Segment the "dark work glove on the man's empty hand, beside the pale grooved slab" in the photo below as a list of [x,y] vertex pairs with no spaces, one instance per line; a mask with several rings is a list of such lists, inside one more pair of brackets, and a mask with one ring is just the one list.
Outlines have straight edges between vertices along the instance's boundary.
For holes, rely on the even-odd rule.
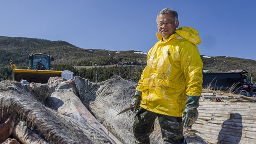
[[190,127],[197,121],[200,97],[188,95],[188,102],[186,103],[186,108],[183,112],[183,126]]

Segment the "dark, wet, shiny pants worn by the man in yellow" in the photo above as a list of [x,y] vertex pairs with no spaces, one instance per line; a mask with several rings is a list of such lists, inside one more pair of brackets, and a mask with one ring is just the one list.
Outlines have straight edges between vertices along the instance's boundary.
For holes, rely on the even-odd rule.
[[183,137],[182,118],[161,115],[139,108],[133,124],[136,144],[150,144],[149,136],[158,117],[165,144],[187,144]]

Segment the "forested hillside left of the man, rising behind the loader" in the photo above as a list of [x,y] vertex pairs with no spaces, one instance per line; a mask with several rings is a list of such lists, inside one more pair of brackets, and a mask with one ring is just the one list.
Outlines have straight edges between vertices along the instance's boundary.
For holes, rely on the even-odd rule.
[[[26,66],[30,53],[47,53],[55,58],[53,64],[114,65],[128,61],[146,63],[146,54],[135,51],[109,51],[83,49],[65,41],[0,36],[0,66],[4,67],[13,60],[16,66]],[[9,65],[8,65],[9,66]]]

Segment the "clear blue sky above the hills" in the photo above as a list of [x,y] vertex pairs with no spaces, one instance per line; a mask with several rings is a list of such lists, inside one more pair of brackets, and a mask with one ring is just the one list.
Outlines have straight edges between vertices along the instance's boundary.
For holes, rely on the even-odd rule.
[[0,36],[148,52],[165,7],[198,30],[200,54],[256,60],[256,0],[0,0]]

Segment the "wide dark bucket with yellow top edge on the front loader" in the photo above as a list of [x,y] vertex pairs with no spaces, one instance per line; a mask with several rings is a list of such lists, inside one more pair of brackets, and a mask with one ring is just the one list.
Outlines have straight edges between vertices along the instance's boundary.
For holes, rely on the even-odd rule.
[[61,77],[61,71],[13,69],[13,80],[27,80],[29,83],[47,83],[50,77]]

